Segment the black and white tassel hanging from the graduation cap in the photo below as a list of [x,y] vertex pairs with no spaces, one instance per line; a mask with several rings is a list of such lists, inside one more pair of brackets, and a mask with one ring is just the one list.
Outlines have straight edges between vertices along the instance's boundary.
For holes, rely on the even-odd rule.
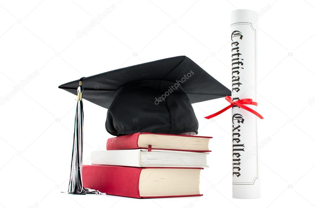
[[74,123],[74,135],[73,135],[73,149],[71,160],[71,173],[69,181],[69,194],[101,194],[94,189],[88,189],[83,187],[82,182],[82,151],[83,151],[83,102],[82,93],[83,86],[79,81],[79,87],[77,88],[77,111]]

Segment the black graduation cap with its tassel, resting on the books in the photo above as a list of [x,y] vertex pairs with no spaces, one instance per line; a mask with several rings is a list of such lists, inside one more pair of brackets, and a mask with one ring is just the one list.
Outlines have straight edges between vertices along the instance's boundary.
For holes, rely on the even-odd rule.
[[[192,103],[231,95],[229,89],[186,56],[142,63],[60,85],[59,88],[78,95],[74,133],[74,143],[78,145],[73,148],[81,152],[74,151],[73,165],[82,160],[79,156],[82,157],[83,87],[84,99],[108,109],[105,127],[115,136],[137,132],[197,134],[198,120]],[[72,171],[79,174],[72,175],[69,193],[87,193],[82,186],[81,170],[73,167]]]

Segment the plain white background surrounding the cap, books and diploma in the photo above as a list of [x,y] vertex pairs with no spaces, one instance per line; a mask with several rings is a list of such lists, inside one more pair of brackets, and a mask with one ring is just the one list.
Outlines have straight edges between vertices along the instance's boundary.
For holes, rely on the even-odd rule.
[[[193,104],[199,135],[214,137],[210,168],[201,172],[202,197],[60,193],[67,191],[76,105],[76,96],[58,89],[60,84],[186,55],[231,88],[230,11],[261,11],[268,4],[258,30],[257,110],[265,117],[258,119],[261,199],[231,197],[231,111],[203,118],[227,106],[223,98]],[[77,38],[77,31],[113,5],[100,24]],[[1,1],[0,207],[314,206],[314,17],[310,0]],[[88,160],[111,135],[106,109],[84,101],[84,113]]]

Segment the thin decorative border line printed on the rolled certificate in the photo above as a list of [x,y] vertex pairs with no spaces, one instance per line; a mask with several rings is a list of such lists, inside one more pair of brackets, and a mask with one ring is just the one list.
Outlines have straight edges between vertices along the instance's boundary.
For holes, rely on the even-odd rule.
[[[254,31],[254,41],[255,41],[255,44],[254,44],[254,51],[255,51],[255,101],[257,100],[256,99],[256,54],[257,54],[257,51],[256,51],[256,30],[255,28],[253,27],[252,23],[250,22],[236,22],[236,23],[233,23],[231,24],[231,27],[232,26],[235,26],[235,25],[249,25],[250,28]],[[256,110],[256,106],[255,106],[255,110]],[[236,184],[236,185],[254,185],[255,184],[255,180],[258,178],[258,142],[257,142],[257,119],[255,118],[255,131],[256,131],[256,176],[253,178],[253,180],[251,182],[233,182],[232,181],[232,184]]]

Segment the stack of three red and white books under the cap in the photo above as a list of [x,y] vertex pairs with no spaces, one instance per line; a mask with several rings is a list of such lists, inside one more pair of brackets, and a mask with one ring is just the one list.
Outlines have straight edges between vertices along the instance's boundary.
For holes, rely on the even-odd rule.
[[211,137],[135,133],[107,140],[83,166],[85,187],[133,198],[201,196]]

